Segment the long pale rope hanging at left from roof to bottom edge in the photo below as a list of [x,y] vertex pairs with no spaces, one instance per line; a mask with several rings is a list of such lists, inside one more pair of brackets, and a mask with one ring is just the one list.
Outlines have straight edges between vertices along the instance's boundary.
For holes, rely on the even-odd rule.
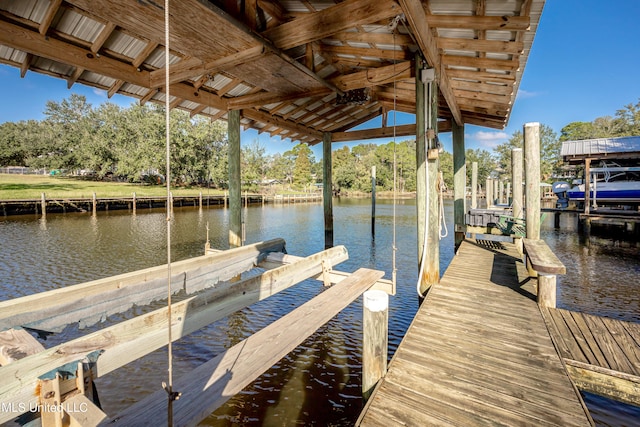
[[171,133],[170,133],[170,102],[169,102],[169,0],[164,2],[164,67],[165,67],[165,148],[167,185],[167,365],[168,380],[162,383],[167,392],[167,425],[173,427],[173,401],[178,400],[180,393],[173,391],[173,337],[171,334],[171,212],[173,200],[171,197]]

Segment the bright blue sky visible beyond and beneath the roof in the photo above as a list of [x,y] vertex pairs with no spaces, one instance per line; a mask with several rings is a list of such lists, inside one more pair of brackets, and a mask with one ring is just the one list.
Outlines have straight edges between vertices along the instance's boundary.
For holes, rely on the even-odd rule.
[[[466,147],[491,151],[527,122],[546,124],[559,134],[568,123],[614,116],[625,105],[636,104],[640,100],[638,19],[638,0],[547,0],[507,127],[467,125]],[[61,101],[71,93],[85,95],[93,105],[107,101],[104,91],[80,84],[68,90],[66,84],[33,72],[21,79],[19,69],[0,65],[4,101],[0,102],[0,123],[42,119],[47,100]],[[122,106],[135,102],[120,95],[110,101]],[[401,120],[398,115],[399,124]],[[293,146],[289,140],[255,131],[242,135],[243,143],[256,139],[269,153]],[[440,139],[451,151],[451,134],[444,133]],[[334,144],[334,149],[339,147]],[[322,157],[319,145],[313,151],[316,158]]]

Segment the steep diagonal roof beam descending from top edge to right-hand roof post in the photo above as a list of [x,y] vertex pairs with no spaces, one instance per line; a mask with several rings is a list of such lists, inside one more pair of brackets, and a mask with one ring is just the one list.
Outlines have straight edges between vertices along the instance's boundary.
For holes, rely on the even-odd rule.
[[442,92],[444,99],[447,101],[447,105],[449,106],[453,119],[457,124],[462,125],[464,123],[462,120],[462,113],[460,112],[460,107],[458,106],[456,97],[453,94],[451,85],[449,84],[447,70],[445,70],[444,67],[441,67],[440,55],[436,45],[435,36],[431,31],[422,2],[420,0],[399,0],[399,3],[402,6],[402,10],[404,10],[409,26],[418,41],[418,46],[420,47],[422,54],[425,56],[427,63],[430,67],[436,69],[436,73],[439,77],[438,88],[440,89],[440,92]]

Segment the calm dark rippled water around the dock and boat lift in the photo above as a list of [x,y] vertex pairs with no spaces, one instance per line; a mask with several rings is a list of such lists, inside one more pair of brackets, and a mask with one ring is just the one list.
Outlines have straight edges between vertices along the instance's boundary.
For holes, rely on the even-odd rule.
[[[350,259],[336,268],[370,267],[387,272],[392,256],[392,205],[379,200],[376,233],[371,234],[370,201],[336,200],[336,245],[345,245]],[[417,308],[415,205],[397,205],[398,292],[390,298],[389,342],[393,353]],[[321,204],[274,205],[243,210],[247,243],[282,237],[287,251],[306,256],[324,248]],[[452,230],[452,203],[445,201]],[[176,209],[172,224],[174,260],[201,255],[207,224],[211,245],[228,247],[227,211],[219,208]],[[84,214],[8,217],[0,219],[0,300],[55,289],[166,261],[166,221],[162,211],[111,211]],[[640,321],[637,250],[584,246],[568,231],[544,230],[545,238],[566,264],[560,279],[558,305],[614,318]],[[453,257],[453,236],[440,243],[441,271]],[[305,281],[180,340],[174,346],[174,372],[198,366],[225,348],[260,330],[322,292]],[[109,321],[130,318],[153,307],[137,307]],[[362,305],[358,300],[318,330],[295,351],[242,393],[206,419],[204,425],[351,425],[362,409],[360,348]],[[107,322],[108,323],[108,322]],[[48,337],[46,347],[102,328],[67,327]],[[165,380],[166,352],[157,351],[98,380],[103,408],[115,414]],[[1,381],[1,380],[0,380]],[[116,387],[117,385],[117,387]],[[600,425],[634,425],[640,410],[597,396],[586,396]]]

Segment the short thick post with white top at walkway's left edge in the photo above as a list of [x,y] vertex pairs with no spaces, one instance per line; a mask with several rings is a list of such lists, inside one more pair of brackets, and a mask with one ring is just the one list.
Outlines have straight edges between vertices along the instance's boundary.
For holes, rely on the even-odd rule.
[[365,400],[387,372],[389,295],[371,290],[363,294],[362,395]]

